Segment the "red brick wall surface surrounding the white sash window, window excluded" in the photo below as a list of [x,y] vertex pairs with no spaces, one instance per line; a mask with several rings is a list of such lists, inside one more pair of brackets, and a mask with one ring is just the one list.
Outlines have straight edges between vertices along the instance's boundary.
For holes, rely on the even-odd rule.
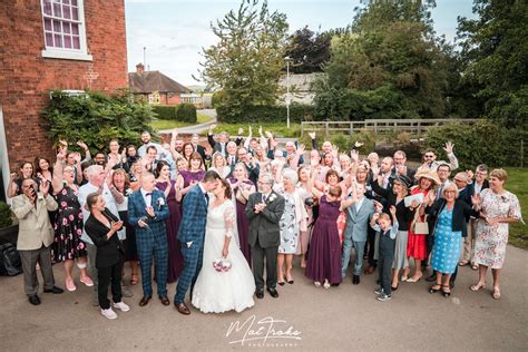
[[128,86],[124,0],[85,0],[85,21],[92,61],[42,58],[40,0],[2,1],[0,105],[12,170],[36,155],[52,157],[52,141],[47,138],[39,115],[49,100],[49,91],[111,91]]

